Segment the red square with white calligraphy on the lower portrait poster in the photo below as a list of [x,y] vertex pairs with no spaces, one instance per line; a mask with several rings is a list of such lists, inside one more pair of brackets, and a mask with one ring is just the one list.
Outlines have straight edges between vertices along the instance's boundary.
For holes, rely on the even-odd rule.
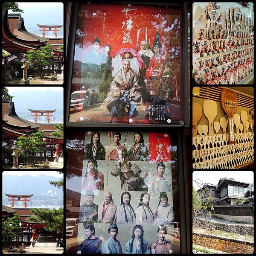
[[149,161],[171,161],[170,134],[149,133]]

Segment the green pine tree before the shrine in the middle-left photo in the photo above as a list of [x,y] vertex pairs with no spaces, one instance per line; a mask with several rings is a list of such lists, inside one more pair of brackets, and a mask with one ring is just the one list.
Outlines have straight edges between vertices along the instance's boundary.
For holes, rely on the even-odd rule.
[[28,157],[30,163],[34,166],[36,164],[36,155],[45,151],[43,131],[39,130],[29,137],[23,135],[18,137],[18,145],[24,156]]

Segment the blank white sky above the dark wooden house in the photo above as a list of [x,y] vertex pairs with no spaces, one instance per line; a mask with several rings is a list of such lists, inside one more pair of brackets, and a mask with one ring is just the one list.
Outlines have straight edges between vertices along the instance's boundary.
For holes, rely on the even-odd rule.
[[[202,183],[218,184],[221,178],[234,178],[237,181],[246,183],[253,183],[253,172],[249,171],[196,171],[193,172],[193,187],[195,190],[199,189],[199,186],[194,180],[201,180]],[[201,182],[200,182],[201,183]]]

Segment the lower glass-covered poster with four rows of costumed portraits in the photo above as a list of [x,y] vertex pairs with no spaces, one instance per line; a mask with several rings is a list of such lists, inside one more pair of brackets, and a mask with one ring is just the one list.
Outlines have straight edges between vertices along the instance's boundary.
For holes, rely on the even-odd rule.
[[66,235],[72,253],[180,253],[174,136],[86,131],[67,150],[66,219],[78,222],[77,243]]

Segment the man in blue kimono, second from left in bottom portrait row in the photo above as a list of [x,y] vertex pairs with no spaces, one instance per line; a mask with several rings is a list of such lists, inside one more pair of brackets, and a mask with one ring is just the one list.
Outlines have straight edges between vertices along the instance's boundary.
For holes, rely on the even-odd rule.
[[120,242],[116,239],[118,234],[118,227],[116,224],[111,224],[108,228],[109,239],[103,245],[102,253],[107,254],[122,254],[122,247]]

